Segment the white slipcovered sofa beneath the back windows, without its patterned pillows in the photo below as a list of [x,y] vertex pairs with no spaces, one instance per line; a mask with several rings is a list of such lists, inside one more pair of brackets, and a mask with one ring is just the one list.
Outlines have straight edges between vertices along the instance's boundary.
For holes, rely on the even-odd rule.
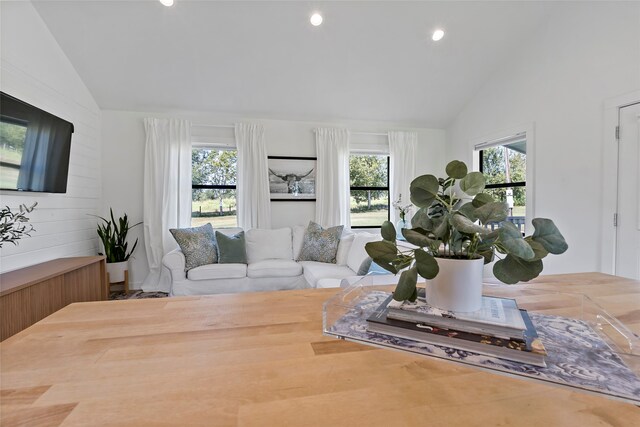
[[[343,279],[357,280],[367,257],[364,245],[380,240],[370,233],[344,232],[336,264],[295,261],[302,249],[306,227],[245,232],[247,264],[208,264],[185,271],[185,257],[178,248],[164,256],[162,264],[171,273],[171,295],[208,295],[283,289],[339,287]],[[219,229],[227,235],[239,228]]]

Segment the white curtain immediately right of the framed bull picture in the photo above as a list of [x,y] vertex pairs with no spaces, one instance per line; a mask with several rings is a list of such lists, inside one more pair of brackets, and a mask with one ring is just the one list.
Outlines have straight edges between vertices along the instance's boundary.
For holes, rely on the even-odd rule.
[[316,129],[316,222],[351,227],[349,216],[349,131]]

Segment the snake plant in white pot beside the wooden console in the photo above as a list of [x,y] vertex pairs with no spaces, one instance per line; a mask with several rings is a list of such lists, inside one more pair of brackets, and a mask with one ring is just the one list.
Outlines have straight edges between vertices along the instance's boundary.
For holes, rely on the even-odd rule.
[[113,209],[109,209],[109,212],[111,214],[110,219],[98,217],[102,220],[102,223],[98,224],[97,231],[104,248],[104,253],[100,255],[104,255],[106,258],[109,281],[111,283],[119,283],[124,282],[124,272],[127,270],[129,258],[138,245],[138,239],[136,239],[131,250],[128,250],[127,234],[131,228],[142,223],[129,225],[129,217],[126,213],[116,220],[113,215]]

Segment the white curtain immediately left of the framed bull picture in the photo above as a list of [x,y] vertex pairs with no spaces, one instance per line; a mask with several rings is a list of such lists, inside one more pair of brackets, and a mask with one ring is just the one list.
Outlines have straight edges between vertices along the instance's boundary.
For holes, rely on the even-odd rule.
[[269,169],[264,127],[258,124],[235,125],[238,147],[238,226],[271,228]]

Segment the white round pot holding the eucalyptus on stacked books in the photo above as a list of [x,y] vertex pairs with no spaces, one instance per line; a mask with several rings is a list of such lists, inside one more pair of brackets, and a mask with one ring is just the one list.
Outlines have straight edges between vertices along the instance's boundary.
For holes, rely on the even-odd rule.
[[427,280],[427,302],[441,310],[469,312],[482,306],[484,258],[436,258],[440,272]]

